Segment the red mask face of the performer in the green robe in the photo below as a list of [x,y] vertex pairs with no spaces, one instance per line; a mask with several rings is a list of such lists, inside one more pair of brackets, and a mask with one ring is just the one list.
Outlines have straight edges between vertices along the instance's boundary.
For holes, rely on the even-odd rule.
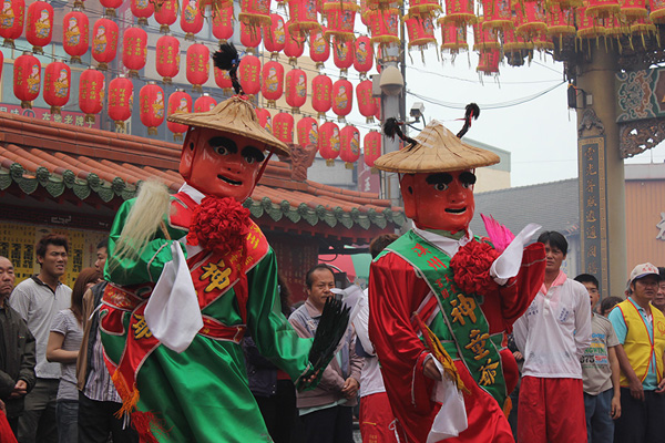
[[265,147],[257,141],[195,127],[185,138],[180,173],[205,195],[244,202],[254,190],[264,159]]

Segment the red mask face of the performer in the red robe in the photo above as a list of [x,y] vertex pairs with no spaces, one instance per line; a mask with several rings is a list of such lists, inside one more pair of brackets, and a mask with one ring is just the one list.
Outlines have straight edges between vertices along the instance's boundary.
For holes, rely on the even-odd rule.
[[421,229],[467,230],[475,202],[470,169],[405,174],[400,182],[405,213]]

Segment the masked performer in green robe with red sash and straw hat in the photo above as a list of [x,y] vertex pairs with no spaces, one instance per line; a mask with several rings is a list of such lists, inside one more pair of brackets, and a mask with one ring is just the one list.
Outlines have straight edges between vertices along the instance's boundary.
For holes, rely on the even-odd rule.
[[242,203],[266,151],[289,151],[243,95],[170,121],[190,126],[185,184],[146,182],[110,234],[100,328],[120,412],[146,442],[270,442],[239,342],[301,382],[311,340],[279,311],[275,253]]

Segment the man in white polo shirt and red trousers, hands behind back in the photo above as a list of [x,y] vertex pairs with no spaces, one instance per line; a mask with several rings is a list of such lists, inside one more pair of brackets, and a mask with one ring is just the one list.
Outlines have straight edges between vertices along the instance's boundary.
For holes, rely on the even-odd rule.
[[518,441],[586,442],[580,357],[591,344],[589,293],[561,270],[565,238],[545,231],[538,240],[545,245],[545,281],[513,332],[524,356]]

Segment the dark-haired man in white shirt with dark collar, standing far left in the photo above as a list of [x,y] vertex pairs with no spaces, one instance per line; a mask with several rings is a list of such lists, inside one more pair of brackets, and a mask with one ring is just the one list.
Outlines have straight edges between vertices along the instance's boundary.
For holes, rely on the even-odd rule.
[[19,419],[21,443],[58,442],[55,396],[60,382],[60,363],[47,361],[47,342],[53,317],[71,305],[72,290],[60,282],[68,261],[66,237],[49,234],[34,247],[41,270],[21,281],[9,299],[9,305],[25,320],[37,340],[37,383],[25,395],[25,412]]

